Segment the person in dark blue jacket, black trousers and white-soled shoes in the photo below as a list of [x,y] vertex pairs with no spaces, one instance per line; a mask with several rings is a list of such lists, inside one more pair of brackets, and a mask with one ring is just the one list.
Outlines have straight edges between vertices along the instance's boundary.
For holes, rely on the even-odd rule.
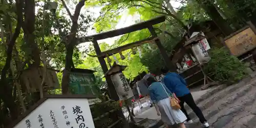
[[187,111],[184,108],[184,102],[186,102],[187,105],[196,113],[197,117],[199,118],[203,126],[209,127],[209,124],[207,123],[207,120],[205,119],[202,111],[195,103],[193,96],[191,95],[189,89],[187,88],[187,83],[185,79],[177,73],[169,72],[169,70],[165,68],[162,68],[161,71],[165,75],[161,81],[180,100],[181,111],[187,117],[185,123],[193,123],[193,120],[189,118]]

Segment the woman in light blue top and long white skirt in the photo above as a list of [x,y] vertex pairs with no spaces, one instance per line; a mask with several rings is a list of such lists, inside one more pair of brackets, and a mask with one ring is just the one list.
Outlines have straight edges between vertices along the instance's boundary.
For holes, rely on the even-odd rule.
[[147,81],[148,91],[150,92],[150,98],[154,103],[157,110],[157,115],[160,116],[164,122],[165,126],[178,124],[181,128],[185,128],[185,124],[183,123],[187,118],[181,110],[174,110],[172,106],[170,106],[170,96],[172,92],[170,92],[163,83],[158,82],[156,78],[151,75],[144,76]]

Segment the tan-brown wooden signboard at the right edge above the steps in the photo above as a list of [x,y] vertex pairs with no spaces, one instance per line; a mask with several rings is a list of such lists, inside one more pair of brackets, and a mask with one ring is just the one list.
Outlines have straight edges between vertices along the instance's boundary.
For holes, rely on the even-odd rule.
[[250,27],[245,27],[229,35],[225,39],[225,45],[231,55],[240,56],[256,48],[256,35]]

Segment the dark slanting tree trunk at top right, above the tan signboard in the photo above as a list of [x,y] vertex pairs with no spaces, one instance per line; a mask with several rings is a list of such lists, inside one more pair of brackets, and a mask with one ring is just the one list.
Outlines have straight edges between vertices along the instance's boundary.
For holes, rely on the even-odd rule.
[[229,24],[223,19],[219,11],[215,8],[214,3],[210,0],[196,0],[206,11],[206,13],[214,20],[215,24],[219,27],[225,36],[230,35],[233,30]]

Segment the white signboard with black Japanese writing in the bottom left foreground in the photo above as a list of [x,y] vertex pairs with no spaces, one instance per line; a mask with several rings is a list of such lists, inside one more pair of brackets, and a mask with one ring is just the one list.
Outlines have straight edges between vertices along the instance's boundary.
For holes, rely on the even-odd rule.
[[14,128],[95,128],[88,99],[48,98]]

